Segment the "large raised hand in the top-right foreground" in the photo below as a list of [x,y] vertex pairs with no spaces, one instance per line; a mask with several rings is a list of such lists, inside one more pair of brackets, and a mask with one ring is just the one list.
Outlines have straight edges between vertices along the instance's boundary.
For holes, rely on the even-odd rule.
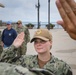
[[63,21],[58,21],[70,37],[76,40],[76,3],[74,0],[56,0]]

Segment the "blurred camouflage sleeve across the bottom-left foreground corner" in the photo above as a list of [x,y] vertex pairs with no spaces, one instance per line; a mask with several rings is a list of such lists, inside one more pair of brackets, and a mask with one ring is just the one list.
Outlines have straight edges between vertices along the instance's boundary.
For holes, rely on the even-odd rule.
[[37,75],[21,66],[11,65],[8,63],[0,63],[0,75]]

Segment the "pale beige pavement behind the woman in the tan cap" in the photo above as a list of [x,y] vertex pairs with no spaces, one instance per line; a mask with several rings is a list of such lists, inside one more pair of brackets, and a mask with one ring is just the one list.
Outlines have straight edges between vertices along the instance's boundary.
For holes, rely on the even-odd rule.
[[[29,29],[31,38],[36,30]],[[50,32],[53,35],[52,54],[67,62],[72,68],[73,75],[76,75],[76,40],[71,39],[63,29],[51,29]],[[26,54],[37,54],[33,43],[28,43]]]

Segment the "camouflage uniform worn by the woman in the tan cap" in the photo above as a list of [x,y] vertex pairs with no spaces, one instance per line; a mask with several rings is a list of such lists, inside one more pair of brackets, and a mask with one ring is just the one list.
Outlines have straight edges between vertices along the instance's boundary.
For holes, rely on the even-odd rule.
[[[14,48],[14,46],[11,46],[3,52],[2,62],[22,65],[28,69],[39,68],[37,55],[23,55],[21,57],[16,57],[16,54],[13,51]],[[52,56],[51,60],[44,65],[43,69],[54,73],[54,75],[72,75],[69,65],[54,56]]]

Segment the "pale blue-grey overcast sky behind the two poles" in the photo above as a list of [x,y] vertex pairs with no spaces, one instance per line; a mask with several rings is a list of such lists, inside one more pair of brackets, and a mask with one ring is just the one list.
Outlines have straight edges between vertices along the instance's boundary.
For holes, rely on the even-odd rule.
[[[0,0],[5,8],[0,8],[0,20],[37,22],[38,0]],[[55,0],[50,0],[50,22],[61,19],[55,5]],[[48,22],[48,0],[40,0],[40,21]]]

